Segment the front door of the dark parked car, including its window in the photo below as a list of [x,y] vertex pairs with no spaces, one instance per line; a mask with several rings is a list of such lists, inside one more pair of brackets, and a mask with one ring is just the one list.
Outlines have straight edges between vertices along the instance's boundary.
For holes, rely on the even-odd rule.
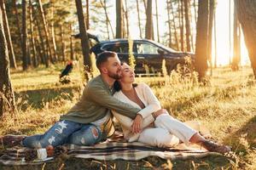
[[156,73],[161,69],[162,57],[158,53],[158,47],[150,42],[135,42],[134,54],[137,59],[137,71]]

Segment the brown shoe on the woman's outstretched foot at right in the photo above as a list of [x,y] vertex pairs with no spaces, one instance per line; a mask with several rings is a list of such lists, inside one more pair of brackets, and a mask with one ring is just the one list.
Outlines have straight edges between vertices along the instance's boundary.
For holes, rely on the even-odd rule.
[[201,146],[207,149],[208,151],[218,152],[221,154],[230,152],[230,146],[224,144],[217,144],[210,140],[206,140],[201,143]]

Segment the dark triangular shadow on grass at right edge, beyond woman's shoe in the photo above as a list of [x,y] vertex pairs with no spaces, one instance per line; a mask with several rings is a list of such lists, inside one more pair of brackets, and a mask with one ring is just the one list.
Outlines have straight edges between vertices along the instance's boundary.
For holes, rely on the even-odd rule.
[[234,151],[247,152],[247,148],[256,147],[256,116],[250,119],[243,127],[236,132],[231,132],[224,141],[228,141],[236,148]]

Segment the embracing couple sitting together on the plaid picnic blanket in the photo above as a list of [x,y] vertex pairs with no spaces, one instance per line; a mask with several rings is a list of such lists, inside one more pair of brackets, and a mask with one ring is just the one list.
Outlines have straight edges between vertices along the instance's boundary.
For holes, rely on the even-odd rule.
[[205,139],[161,109],[152,90],[145,83],[134,83],[134,71],[125,63],[121,65],[117,54],[99,54],[96,66],[101,75],[87,83],[79,102],[46,133],[27,137],[6,135],[0,138],[2,144],[46,148],[48,154],[61,144],[92,145],[113,134],[115,116],[129,142],[170,147],[182,141],[222,154],[230,151],[230,147]]

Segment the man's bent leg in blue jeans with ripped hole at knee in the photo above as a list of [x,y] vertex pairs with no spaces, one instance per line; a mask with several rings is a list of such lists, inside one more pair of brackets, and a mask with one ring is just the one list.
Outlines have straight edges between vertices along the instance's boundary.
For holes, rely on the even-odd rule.
[[93,124],[84,125],[79,131],[68,137],[68,144],[92,145],[100,142],[102,131]]

